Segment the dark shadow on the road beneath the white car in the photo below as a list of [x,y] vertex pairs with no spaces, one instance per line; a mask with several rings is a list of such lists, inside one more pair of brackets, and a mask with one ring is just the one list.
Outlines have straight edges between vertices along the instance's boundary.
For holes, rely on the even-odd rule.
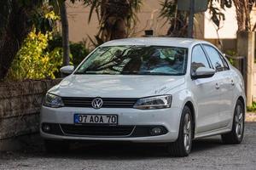
[[[221,140],[217,137],[198,139],[193,141],[192,154],[214,150],[222,147]],[[97,143],[71,144],[71,149],[59,154],[47,154],[46,157],[61,157],[73,159],[104,159],[104,160],[131,160],[150,159],[154,157],[169,157],[166,144],[134,144],[134,143]]]

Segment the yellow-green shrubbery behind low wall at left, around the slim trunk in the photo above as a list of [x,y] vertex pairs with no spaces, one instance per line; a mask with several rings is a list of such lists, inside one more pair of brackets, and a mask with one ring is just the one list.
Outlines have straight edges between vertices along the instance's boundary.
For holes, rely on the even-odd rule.
[[[45,14],[46,18],[58,20],[51,11]],[[70,60],[75,66],[89,54],[82,42],[70,42]],[[61,77],[62,39],[52,31],[38,32],[34,28],[26,40],[9,69],[7,80],[42,79]]]

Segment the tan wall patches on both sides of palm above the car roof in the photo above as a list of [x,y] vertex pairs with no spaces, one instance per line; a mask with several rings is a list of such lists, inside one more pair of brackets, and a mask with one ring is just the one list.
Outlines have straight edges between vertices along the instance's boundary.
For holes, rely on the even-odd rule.
[[[168,24],[164,25],[164,20],[158,17],[160,8],[158,0],[143,0],[141,11],[137,14],[139,21],[135,26],[132,37],[141,37],[144,35],[144,30],[147,29],[153,29],[155,36],[166,35]],[[67,4],[71,41],[80,42],[87,39],[88,35],[90,37],[96,35],[99,23],[95,13],[92,15],[90,23],[88,23],[89,12],[90,8],[86,8],[83,3]]]

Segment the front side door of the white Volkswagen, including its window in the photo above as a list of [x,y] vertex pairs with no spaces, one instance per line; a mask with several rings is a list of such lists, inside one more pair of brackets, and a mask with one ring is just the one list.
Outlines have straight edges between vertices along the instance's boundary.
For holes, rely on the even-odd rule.
[[[201,44],[195,45],[192,49],[191,74],[199,67],[212,68]],[[219,74],[215,74],[213,77],[192,80],[191,90],[197,104],[196,133],[204,133],[218,128],[219,77]]]

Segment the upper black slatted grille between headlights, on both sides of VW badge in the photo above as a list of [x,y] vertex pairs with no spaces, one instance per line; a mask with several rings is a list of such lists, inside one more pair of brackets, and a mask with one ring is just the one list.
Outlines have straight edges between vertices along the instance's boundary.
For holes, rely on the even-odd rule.
[[[92,107],[91,102],[95,98],[62,97],[67,107]],[[103,108],[132,108],[137,102],[135,98],[102,98]]]

